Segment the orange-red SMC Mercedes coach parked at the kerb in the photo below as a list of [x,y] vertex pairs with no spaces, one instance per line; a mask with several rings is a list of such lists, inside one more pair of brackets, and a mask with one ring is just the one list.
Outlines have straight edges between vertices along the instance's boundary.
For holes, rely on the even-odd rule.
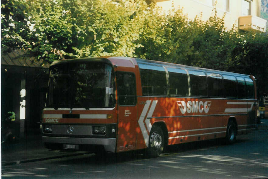
[[129,57],[54,61],[42,114],[50,149],[107,153],[225,138],[256,128],[252,75]]

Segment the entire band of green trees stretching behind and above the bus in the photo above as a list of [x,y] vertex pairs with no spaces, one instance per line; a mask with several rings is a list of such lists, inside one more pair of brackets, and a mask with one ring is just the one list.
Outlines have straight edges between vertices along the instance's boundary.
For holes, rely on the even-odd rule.
[[252,74],[268,92],[268,34],[227,30],[223,17],[166,16],[144,0],[3,0],[2,53],[36,60],[129,56]]

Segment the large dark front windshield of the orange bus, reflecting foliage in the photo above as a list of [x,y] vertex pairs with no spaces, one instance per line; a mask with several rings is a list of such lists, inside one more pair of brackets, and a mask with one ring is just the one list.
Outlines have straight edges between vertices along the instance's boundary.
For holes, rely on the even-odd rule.
[[115,106],[114,72],[105,63],[63,63],[50,68],[46,107]]

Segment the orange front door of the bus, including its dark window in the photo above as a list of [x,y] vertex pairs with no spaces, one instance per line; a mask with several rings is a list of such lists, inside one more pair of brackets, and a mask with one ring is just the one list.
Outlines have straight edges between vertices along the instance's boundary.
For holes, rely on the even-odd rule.
[[116,72],[118,94],[118,135],[116,151],[135,149],[137,126],[137,96],[135,74]]

